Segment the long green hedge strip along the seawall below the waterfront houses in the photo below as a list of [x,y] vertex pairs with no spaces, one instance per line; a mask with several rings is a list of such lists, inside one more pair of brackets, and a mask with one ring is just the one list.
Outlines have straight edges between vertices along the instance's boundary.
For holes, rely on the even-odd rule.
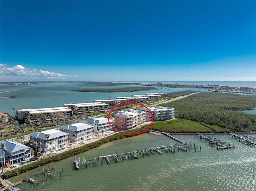
[[[141,132],[141,131],[142,131],[142,129],[140,128],[140,129],[135,129],[135,130],[128,130],[126,132],[130,133],[130,134],[133,134],[133,133],[137,133],[137,132]],[[150,130],[147,130],[146,132],[143,132],[143,133],[148,133],[148,132],[150,132]],[[4,176],[5,179],[8,179],[10,177],[19,175],[19,174],[24,173],[26,171],[35,169],[39,166],[46,165],[46,164],[54,162],[54,161],[60,161],[62,159],[65,159],[65,158],[68,158],[68,157],[86,152],[90,149],[97,148],[98,146],[101,146],[104,143],[111,142],[111,141],[114,141],[114,140],[123,139],[123,138],[127,138],[127,137],[132,137],[132,136],[136,136],[136,135],[124,135],[124,134],[116,133],[116,134],[113,134],[111,136],[107,136],[105,138],[102,138],[98,141],[80,146],[78,148],[74,148],[74,149],[62,152],[60,154],[54,154],[52,156],[49,156],[47,158],[35,161],[33,163],[29,163],[27,165],[22,165],[21,167],[18,167],[16,169],[13,169],[11,171],[7,171],[7,172],[3,173],[3,176]]]

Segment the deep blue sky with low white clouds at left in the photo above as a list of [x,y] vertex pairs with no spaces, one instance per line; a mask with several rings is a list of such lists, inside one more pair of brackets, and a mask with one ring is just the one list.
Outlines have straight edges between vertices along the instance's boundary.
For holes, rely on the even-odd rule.
[[255,81],[256,1],[0,1],[1,81]]

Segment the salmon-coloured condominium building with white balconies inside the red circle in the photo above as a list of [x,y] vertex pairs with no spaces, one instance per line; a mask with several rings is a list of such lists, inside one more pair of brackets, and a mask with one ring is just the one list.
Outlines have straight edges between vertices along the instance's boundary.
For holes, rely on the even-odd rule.
[[114,125],[125,130],[135,128],[143,123],[143,111],[127,110],[114,115]]

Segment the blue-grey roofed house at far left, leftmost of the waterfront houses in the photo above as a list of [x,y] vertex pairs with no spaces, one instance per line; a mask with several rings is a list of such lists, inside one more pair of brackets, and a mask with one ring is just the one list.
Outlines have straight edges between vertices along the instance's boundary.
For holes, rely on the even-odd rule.
[[[30,153],[31,148],[24,144],[21,144],[18,142],[12,142],[9,140],[3,140],[1,141],[1,143],[2,142],[5,142],[6,150],[4,151],[4,158],[5,158],[6,164],[8,165],[13,165],[14,163],[24,161],[26,158],[31,156],[31,153]],[[2,149],[1,144],[0,144],[0,148]],[[0,150],[1,166],[3,166],[2,157],[3,157],[3,152],[2,150]]]

